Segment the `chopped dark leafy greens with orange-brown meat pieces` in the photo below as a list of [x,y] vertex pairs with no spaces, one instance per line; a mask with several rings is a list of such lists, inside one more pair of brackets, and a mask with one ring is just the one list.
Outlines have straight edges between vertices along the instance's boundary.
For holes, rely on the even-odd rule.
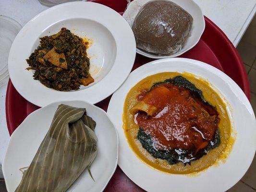
[[89,73],[88,42],[70,30],[40,38],[40,45],[26,60],[34,79],[58,91],[78,90],[94,82]]

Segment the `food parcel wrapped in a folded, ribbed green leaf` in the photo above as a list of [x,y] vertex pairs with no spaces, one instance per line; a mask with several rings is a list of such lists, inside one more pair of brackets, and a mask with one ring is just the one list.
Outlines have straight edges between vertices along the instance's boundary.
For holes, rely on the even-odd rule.
[[90,173],[97,154],[95,126],[85,108],[61,104],[15,192],[65,192],[85,168]]

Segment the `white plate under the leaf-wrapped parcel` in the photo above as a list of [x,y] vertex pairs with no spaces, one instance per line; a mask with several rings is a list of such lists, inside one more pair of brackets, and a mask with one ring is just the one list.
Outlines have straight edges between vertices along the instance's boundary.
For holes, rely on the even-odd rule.
[[107,113],[101,108],[84,101],[68,101],[52,103],[34,111],[12,133],[2,164],[8,192],[14,192],[19,185],[23,176],[19,169],[30,165],[60,104],[86,108],[87,115],[96,121],[95,134],[98,138],[97,156],[91,167],[95,181],[85,169],[68,192],[102,192],[108,184],[117,167],[117,131]]

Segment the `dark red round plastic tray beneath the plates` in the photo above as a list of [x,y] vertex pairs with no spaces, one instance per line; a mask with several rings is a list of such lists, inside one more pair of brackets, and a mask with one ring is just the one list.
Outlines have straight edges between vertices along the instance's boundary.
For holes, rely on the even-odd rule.
[[[90,0],[109,6],[117,12],[124,12],[126,0]],[[198,44],[180,57],[206,62],[229,75],[244,91],[250,100],[250,89],[243,62],[227,36],[205,17],[206,28]],[[141,55],[136,55],[133,70],[152,61]],[[31,90],[33,91],[33,90]],[[107,111],[111,96],[96,104]],[[121,106],[122,107],[122,106]],[[11,80],[8,83],[6,94],[6,119],[10,135],[31,112],[39,107],[26,101],[13,87]],[[105,192],[143,192],[122,170],[117,167]]]

